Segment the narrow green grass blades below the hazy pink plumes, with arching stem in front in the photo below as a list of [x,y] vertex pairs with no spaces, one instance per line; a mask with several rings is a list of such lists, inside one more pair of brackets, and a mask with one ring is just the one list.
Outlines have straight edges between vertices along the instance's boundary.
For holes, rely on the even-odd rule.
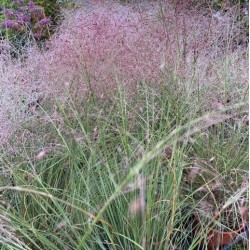
[[[139,84],[136,98],[120,89],[106,101],[58,103],[62,119],[51,120],[50,133],[61,149],[42,160],[30,151],[3,161],[21,163],[11,172],[13,187],[1,188],[9,202],[1,207],[4,223],[18,235],[10,238],[13,247],[196,249],[210,232],[206,223],[226,225],[211,219],[212,210],[233,205],[238,213],[240,197],[247,198],[245,188],[238,190],[247,170],[245,125],[222,119],[207,127],[216,113],[200,117],[188,93],[180,102],[157,88]],[[192,225],[206,202],[213,209],[210,219],[202,217],[200,238]]]

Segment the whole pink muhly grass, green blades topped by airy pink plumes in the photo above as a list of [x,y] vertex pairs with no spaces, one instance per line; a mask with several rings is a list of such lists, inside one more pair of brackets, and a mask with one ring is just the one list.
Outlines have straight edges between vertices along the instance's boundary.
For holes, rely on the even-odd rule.
[[214,229],[247,226],[247,56],[230,16],[119,6],[1,57],[2,124],[18,125],[0,151],[1,249],[209,249]]

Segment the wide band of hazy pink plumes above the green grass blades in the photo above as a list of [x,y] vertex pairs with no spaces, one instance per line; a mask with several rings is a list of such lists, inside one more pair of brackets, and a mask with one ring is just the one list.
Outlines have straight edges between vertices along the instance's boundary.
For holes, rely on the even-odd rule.
[[227,43],[233,35],[232,15],[218,22],[167,3],[143,9],[96,4],[66,15],[36,70],[44,89],[50,86],[56,95],[68,89],[73,96],[103,96],[112,93],[118,81],[132,94],[138,80],[164,82],[166,77],[194,88],[216,84],[224,55],[231,51],[232,60],[245,60],[240,55],[244,50],[232,52]]

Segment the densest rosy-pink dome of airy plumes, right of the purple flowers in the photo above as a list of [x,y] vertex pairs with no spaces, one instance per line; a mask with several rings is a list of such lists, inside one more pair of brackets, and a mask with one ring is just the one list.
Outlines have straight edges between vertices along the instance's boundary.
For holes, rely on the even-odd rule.
[[132,86],[138,79],[159,76],[165,39],[163,28],[153,19],[118,4],[78,11],[44,54],[50,66],[43,64],[41,70],[47,72],[43,82],[56,78],[64,86],[74,81],[81,93],[87,91],[88,80],[98,95],[112,91],[117,80]]

